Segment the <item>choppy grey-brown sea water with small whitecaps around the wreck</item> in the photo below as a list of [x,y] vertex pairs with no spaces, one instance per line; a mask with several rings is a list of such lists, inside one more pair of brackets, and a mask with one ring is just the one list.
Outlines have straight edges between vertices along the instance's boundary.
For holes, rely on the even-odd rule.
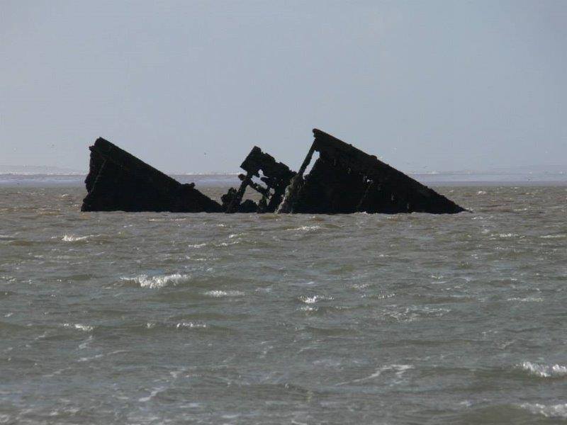
[[82,213],[80,187],[0,187],[0,423],[565,421],[567,187],[440,191],[473,212]]

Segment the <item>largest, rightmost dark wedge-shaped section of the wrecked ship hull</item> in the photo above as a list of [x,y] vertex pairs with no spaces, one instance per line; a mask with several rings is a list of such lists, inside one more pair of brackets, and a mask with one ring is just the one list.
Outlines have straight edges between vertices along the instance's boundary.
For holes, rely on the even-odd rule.
[[[401,171],[314,129],[315,140],[293,178],[279,212],[348,214],[352,212],[430,212],[465,209]],[[315,152],[319,158],[303,176]]]

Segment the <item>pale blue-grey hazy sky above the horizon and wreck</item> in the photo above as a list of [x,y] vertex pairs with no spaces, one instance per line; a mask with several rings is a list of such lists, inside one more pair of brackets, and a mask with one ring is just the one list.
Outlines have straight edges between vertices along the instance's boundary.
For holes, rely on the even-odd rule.
[[567,168],[567,1],[0,0],[0,164],[298,169],[320,128],[403,171]]

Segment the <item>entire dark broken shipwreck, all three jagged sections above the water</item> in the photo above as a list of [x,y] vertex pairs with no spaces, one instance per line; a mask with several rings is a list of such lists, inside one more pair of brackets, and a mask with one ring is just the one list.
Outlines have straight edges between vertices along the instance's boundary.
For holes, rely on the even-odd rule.
[[[239,188],[222,196],[222,205],[99,138],[91,150],[82,211],[170,212],[292,212],[348,214],[351,212],[431,212],[454,214],[459,205],[321,130],[296,173],[286,164],[254,147],[240,165]],[[312,169],[305,175],[313,155]],[[254,181],[254,178],[259,180]],[[242,201],[247,188],[257,191],[258,203]]]

